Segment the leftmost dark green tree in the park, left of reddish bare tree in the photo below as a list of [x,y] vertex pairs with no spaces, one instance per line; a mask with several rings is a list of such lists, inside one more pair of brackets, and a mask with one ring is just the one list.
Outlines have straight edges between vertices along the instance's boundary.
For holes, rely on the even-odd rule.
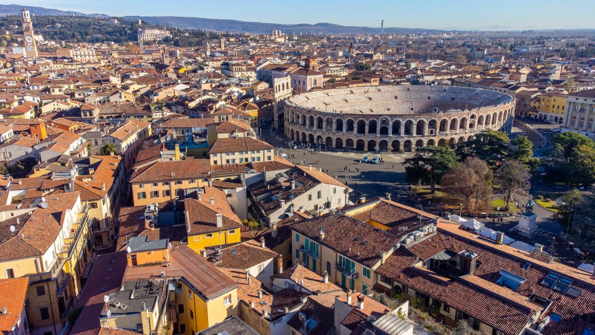
[[[449,148],[430,146],[419,148],[413,157],[406,158],[402,164],[415,165],[418,168],[422,166],[427,170],[431,194],[434,194],[436,193],[436,184],[440,182],[441,176],[449,169],[454,168],[458,159],[459,157]],[[405,172],[407,172],[406,168]]]

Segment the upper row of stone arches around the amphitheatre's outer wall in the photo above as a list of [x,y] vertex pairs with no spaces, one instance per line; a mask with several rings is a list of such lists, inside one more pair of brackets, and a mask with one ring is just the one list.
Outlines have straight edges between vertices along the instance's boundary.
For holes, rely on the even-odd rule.
[[469,117],[452,117],[451,119],[396,119],[389,117],[376,119],[357,119],[342,118],[333,119],[332,117],[323,118],[322,116],[313,116],[294,113],[290,110],[287,122],[294,125],[300,125],[304,128],[321,129],[330,132],[355,132],[355,134],[376,134],[376,135],[434,135],[439,132],[458,131],[459,129],[475,129],[481,127],[494,127],[502,125],[512,116],[513,108],[500,110],[499,112],[481,114],[471,114]]

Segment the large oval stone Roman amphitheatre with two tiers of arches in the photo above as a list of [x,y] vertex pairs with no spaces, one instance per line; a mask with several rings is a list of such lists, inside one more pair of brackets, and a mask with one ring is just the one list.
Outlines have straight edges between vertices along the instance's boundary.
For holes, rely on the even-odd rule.
[[362,151],[415,151],[472,138],[485,128],[510,132],[514,99],[457,86],[328,89],[284,101],[280,129],[298,143]]

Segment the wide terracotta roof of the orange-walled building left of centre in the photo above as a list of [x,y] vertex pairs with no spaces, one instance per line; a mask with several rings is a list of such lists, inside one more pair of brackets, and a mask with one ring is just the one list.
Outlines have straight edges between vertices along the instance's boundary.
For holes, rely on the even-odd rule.
[[208,178],[210,165],[208,159],[190,158],[168,162],[155,162],[146,168],[133,172],[130,182]]

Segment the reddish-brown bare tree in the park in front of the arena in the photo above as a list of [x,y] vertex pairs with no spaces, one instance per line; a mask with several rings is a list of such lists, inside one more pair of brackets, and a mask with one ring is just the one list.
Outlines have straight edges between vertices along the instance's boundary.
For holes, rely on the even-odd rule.
[[492,172],[486,162],[477,157],[467,157],[452,168],[441,179],[440,190],[472,207],[472,201],[479,203],[491,188]]

